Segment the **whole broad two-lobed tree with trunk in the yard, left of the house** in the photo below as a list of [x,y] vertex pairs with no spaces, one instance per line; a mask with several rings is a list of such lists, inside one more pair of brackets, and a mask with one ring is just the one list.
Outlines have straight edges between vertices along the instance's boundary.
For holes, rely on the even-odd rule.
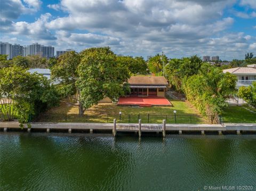
[[80,54],[71,51],[61,55],[52,67],[52,78],[59,81],[63,97],[76,94],[79,114],[83,115],[104,97],[123,95],[129,70],[109,47],[89,48]]

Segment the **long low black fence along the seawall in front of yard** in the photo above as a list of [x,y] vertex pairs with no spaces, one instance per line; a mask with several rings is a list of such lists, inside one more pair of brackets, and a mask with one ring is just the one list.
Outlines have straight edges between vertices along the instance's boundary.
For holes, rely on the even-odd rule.
[[[221,123],[219,116],[211,116],[217,119],[217,123]],[[120,114],[120,115],[79,115],[79,114],[57,114],[47,113],[41,114],[35,118],[34,122],[86,122],[86,123],[112,123],[116,119],[117,123],[138,123],[141,119],[142,123],[210,123],[203,115],[184,114],[184,115],[157,115],[157,114]]]

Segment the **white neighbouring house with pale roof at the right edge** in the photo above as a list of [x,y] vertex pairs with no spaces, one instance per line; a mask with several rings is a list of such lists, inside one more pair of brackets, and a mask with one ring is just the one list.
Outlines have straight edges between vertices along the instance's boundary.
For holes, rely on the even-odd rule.
[[253,67],[238,67],[223,70],[223,73],[227,72],[237,77],[237,87],[249,86],[252,85],[253,81],[256,81],[256,68]]

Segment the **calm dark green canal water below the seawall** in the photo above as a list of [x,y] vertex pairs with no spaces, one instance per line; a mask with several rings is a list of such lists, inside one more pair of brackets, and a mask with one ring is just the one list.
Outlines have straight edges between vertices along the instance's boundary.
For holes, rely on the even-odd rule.
[[0,190],[256,190],[255,135],[1,132]]

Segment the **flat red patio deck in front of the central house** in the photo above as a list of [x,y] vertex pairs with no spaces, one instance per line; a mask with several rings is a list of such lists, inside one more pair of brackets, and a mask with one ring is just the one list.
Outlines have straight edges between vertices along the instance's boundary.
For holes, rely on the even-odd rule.
[[172,106],[165,97],[119,97],[117,105],[122,106]]

